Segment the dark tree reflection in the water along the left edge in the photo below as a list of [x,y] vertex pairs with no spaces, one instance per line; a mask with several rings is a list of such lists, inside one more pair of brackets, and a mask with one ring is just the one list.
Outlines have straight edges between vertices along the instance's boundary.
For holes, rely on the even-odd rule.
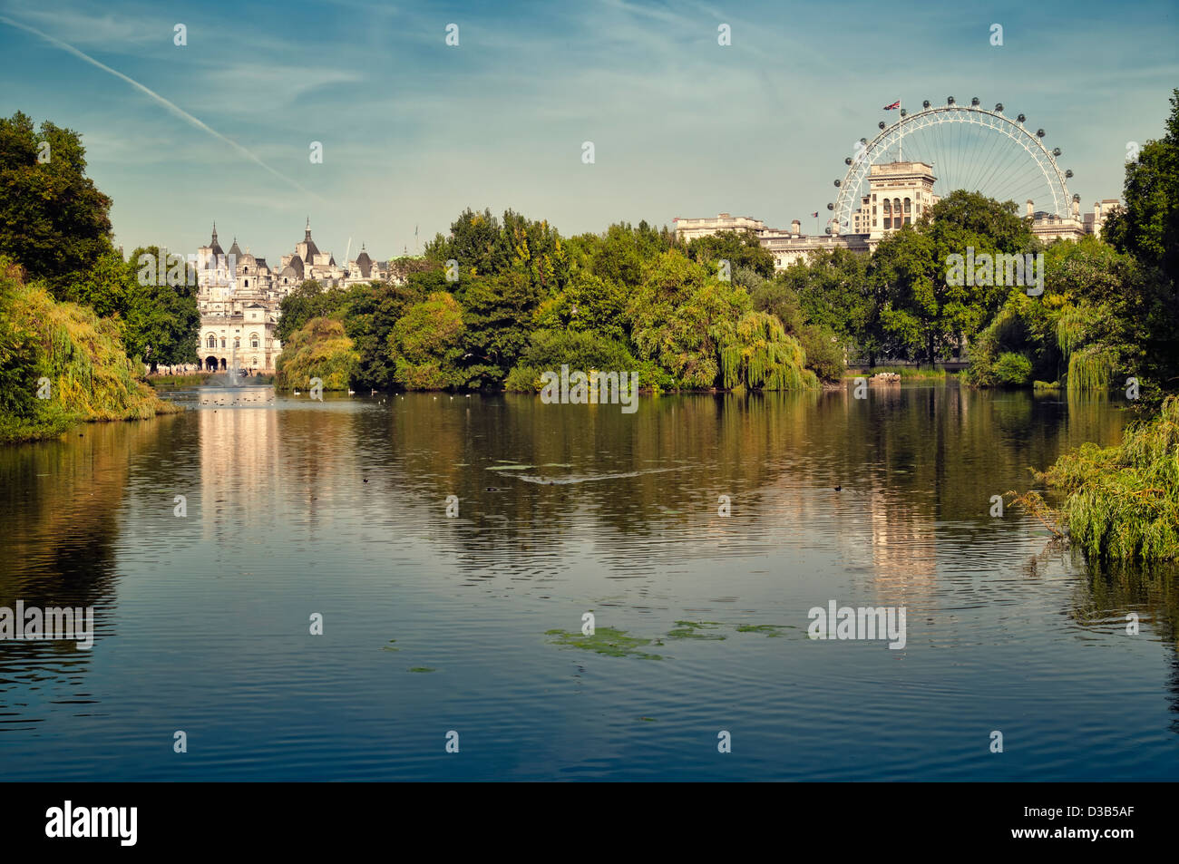
[[[93,606],[95,645],[113,632],[114,550],[130,461],[173,420],[95,423],[61,441],[0,448],[0,606]],[[0,701],[20,717],[21,688],[41,688],[47,675],[80,687],[90,657],[73,641],[5,640]]]

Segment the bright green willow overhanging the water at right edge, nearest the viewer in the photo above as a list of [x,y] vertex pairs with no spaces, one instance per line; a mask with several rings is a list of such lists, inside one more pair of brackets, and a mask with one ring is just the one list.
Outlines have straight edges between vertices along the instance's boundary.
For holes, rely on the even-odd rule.
[[1179,397],[1119,446],[1084,444],[1038,476],[1065,493],[1061,516],[1091,559],[1179,560]]

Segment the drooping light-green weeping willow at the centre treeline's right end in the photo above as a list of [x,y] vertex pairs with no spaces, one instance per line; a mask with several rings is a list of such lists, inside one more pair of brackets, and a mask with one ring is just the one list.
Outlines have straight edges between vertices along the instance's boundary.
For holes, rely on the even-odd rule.
[[720,345],[725,389],[804,390],[818,387],[805,368],[806,352],[769,312],[745,312],[713,335]]

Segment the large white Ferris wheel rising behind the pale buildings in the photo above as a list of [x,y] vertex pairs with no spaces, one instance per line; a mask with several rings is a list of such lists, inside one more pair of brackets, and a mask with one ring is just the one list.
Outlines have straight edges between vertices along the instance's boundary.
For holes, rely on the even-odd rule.
[[1038,210],[1068,217],[1073,199],[1066,182],[1073,172],[1056,165],[1060,147],[1048,150],[1045,131],[1026,128],[1026,119],[1023,114],[1003,114],[1002,103],[994,110],[984,108],[977,97],[970,105],[957,105],[949,97],[946,105],[933,106],[927,99],[921,111],[911,114],[901,108],[896,123],[889,126],[881,121],[880,134],[871,140],[861,138],[852,156],[844,159],[848,173],[835,182],[839,197],[826,205],[831,211],[826,232],[855,232],[855,215],[868,193],[871,166],[893,161],[931,166],[937,178],[934,194],[941,198],[964,189],[1001,202],[1030,199]]

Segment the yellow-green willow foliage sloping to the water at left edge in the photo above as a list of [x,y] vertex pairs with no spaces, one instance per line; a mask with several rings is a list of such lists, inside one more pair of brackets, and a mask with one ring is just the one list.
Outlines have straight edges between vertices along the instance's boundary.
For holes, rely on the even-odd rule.
[[80,422],[182,410],[138,377],[116,325],[59,303],[0,266],[0,442],[57,437]]

